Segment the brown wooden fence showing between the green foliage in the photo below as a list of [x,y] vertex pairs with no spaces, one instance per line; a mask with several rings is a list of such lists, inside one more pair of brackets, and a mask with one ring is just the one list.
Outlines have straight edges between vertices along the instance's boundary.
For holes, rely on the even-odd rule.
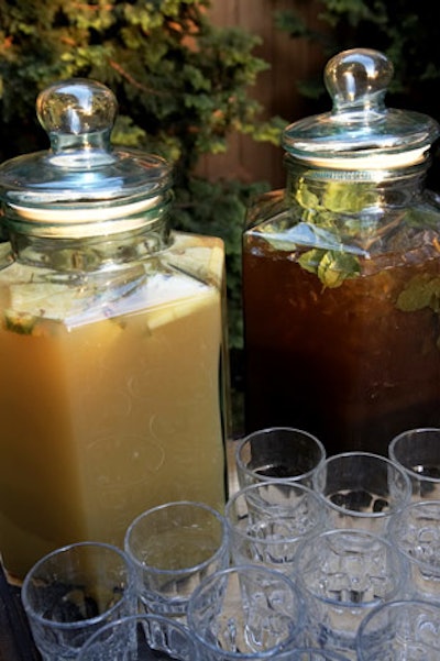
[[[262,117],[279,115],[295,121],[308,114],[308,106],[298,93],[298,79],[322,70],[323,55],[307,40],[293,40],[274,24],[276,10],[298,8],[310,22],[317,20],[318,0],[211,0],[210,16],[216,25],[235,25],[261,37],[254,54],[268,63],[258,75],[250,95],[263,106]],[[283,152],[265,143],[231,135],[226,154],[208,156],[200,163],[202,175],[216,179],[235,177],[245,181],[270,181],[283,186]]]

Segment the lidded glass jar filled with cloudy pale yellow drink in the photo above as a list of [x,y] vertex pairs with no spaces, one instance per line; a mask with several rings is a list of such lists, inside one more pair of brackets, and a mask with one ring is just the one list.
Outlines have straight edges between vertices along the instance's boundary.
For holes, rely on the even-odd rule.
[[42,92],[51,148],[0,167],[0,550],[120,546],[144,509],[226,499],[224,250],[170,232],[160,157],[114,150],[112,92]]

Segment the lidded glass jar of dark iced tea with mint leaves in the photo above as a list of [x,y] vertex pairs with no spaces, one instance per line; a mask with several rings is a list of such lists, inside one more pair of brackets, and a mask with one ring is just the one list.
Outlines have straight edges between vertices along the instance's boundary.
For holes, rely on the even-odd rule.
[[286,129],[286,188],[250,210],[248,432],[386,454],[404,429],[440,426],[440,203],[425,187],[439,126],[385,107],[392,74],[375,51],[333,57],[332,110]]

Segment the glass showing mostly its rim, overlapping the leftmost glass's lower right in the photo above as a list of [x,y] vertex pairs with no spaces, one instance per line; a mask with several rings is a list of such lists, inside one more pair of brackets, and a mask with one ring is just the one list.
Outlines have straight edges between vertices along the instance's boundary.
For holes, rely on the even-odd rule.
[[[162,615],[133,615],[99,629],[81,648],[78,661],[198,661],[189,629]],[[201,661],[201,660],[200,660]]]

